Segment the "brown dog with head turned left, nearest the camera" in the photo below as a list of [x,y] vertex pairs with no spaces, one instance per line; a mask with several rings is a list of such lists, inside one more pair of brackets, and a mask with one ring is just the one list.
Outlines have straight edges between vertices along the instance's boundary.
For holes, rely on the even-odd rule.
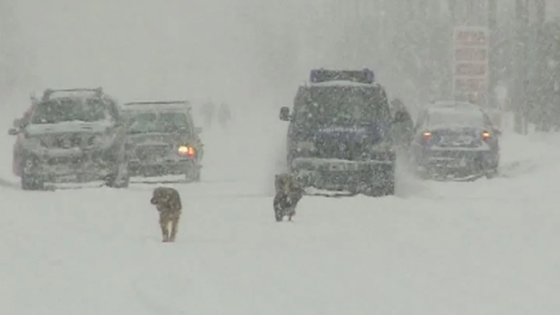
[[[157,187],[153,190],[150,203],[156,205],[157,211],[160,213],[162,242],[175,242],[181,209],[183,209],[179,192],[171,187]],[[169,231],[170,223],[171,231]]]

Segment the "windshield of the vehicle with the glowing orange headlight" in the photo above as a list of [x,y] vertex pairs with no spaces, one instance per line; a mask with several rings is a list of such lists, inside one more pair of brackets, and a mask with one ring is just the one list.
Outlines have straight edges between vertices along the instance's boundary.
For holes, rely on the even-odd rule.
[[182,112],[139,112],[128,118],[128,133],[174,133],[189,130],[189,120]]

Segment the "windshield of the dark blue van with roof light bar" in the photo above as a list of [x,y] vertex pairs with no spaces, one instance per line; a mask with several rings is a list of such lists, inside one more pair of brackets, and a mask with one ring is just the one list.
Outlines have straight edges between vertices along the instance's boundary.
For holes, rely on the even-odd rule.
[[294,109],[296,123],[356,125],[390,121],[389,105],[378,88],[311,87],[300,97]]

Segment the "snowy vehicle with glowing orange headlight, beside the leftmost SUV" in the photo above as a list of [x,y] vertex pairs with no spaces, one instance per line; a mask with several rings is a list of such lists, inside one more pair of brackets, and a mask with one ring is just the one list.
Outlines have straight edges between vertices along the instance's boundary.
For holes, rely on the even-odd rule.
[[204,145],[188,101],[144,101],[123,105],[127,117],[130,176],[184,175],[200,181]]

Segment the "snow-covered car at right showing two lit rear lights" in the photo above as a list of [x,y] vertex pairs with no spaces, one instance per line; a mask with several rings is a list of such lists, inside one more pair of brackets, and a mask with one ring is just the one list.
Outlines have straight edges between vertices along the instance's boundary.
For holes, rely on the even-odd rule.
[[496,175],[501,131],[482,107],[465,102],[427,107],[415,132],[412,156],[423,177]]

